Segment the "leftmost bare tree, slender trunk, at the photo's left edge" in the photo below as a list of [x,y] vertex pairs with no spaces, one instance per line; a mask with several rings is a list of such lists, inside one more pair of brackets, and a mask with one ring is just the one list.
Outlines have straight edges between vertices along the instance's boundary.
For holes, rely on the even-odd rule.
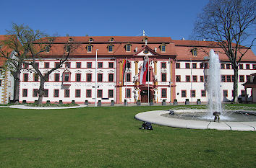
[[0,48],[0,57],[7,60],[7,69],[14,77],[14,102],[19,102],[20,72],[29,54],[26,40],[28,30],[27,26],[13,23],[12,30],[7,30],[5,40],[0,42],[4,46]]

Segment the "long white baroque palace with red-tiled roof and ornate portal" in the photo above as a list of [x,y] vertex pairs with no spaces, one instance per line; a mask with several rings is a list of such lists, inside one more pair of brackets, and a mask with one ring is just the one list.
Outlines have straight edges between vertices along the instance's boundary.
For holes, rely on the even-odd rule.
[[[221,61],[221,91],[223,102],[233,99],[234,72],[228,57],[209,41],[172,40],[171,37],[56,37],[51,50],[38,58],[40,71],[56,66],[58,58],[67,52],[69,42],[79,44],[62,68],[46,81],[43,102],[69,103],[135,103],[141,102],[207,102],[208,53],[213,49]],[[50,43],[50,42],[49,42]],[[247,50],[244,48],[242,50]],[[96,63],[97,55],[97,63]],[[140,82],[143,63],[147,60],[145,82]],[[20,82],[20,102],[38,100],[38,76],[32,67],[24,65]],[[97,66],[97,71],[96,71]],[[96,71],[96,73],[95,73]],[[256,72],[256,57],[248,50],[239,66],[239,97],[252,100],[251,89],[245,92],[244,82]],[[95,81],[97,86],[95,89]],[[96,92],[95,92],[96,90]],[[245,95],[247,93],[247,95]],[[95,97],[96,96],[96,97]]]

